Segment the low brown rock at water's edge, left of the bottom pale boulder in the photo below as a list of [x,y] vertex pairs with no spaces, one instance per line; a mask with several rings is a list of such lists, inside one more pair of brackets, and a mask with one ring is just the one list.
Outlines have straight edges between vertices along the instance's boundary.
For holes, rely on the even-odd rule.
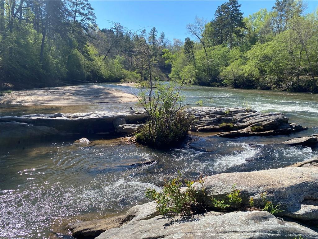
[[67,228],[76,239],[91,239],[110,228],[119,228],[126,222],[128,222],[126,215],[121,215],[100,220],[72,223],[67,225]]

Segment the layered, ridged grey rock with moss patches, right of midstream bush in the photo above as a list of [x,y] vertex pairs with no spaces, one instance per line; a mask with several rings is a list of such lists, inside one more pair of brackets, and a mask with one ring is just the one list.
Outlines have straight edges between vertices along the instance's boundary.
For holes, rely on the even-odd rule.
[[192,131],[225,131],[218,136],[239,137],[251,135],[289,134],[307,129],[288,123],[282,113],[260,113],[243,108],[194,107],[185,112],[194,116]]

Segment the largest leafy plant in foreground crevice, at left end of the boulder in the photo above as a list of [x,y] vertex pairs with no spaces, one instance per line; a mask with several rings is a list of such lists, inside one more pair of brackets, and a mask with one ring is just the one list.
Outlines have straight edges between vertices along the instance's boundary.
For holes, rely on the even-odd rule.
[[147,189],[146,196],[156,201],[157,210],[161,214],[177,213],[190,214],[196,207],[196,192],[191,187],[194,181],[184,180],[187,190],[180,191],[184,179],[178,171],[178,176],[163,185],[163,192]]

